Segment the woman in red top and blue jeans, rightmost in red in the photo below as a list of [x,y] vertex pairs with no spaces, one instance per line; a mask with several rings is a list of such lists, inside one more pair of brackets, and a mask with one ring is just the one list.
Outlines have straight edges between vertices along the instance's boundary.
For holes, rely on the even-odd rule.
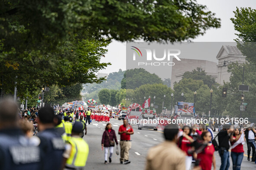
[[[233,139],[231,139],[232,149],[231,149],[231,158],[233,163],[233,170],[240,170],[241,164],[243,161],[243,144],[242,141],[245,141],[245,136],[241,136],[243,131],[239,131],[238,128],[235,129],[233,133]],[[243,139],[240,139],[240,138]],[[240,139],[240,140],[239,140]]]

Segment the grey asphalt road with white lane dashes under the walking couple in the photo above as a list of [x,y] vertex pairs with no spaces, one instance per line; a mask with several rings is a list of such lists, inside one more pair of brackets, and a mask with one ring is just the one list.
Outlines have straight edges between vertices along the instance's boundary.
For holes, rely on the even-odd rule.
[[[111,119],[112,128],[116,131],[117,139],[120,140],[118,135],[119,126],[123,124],[123,121]],[[101,138],[107,123],[96,123],[92,121],[90,125],[87,125],[87,135],[84,136],[84,140],[89,145],[89,156],[86,163],[87,170],[143,170],[146,165],[146,155],[148,149],[152,146],[158,145],[163,142],[163,132],[153,131],[149,129],[139,130],[137,126],[133,125],[134,134],[131,135],[132,148],[130,149],[130,164],[120,164],[120,155],[115,153],[116,148],[112,156],[112,163],[104,164],[104,151],[101,150]],[[217,134],[217,132],[216,132]],[[119,147],[119,145],[118,145]],[[120,151],[120,147],[119,147]],[[241,165],[241,170],[256,170],[256,164],[254,162],[247,161],[247,146],[244,145],[244,157]],[[171,154],[171,153],[170,153]],[[216,151],[216,164],[217,170],[220,168],[220,156]],[[213,169],[213,168],[212,168]],[[230,157],[230,168],[232,170],[232,160]]]

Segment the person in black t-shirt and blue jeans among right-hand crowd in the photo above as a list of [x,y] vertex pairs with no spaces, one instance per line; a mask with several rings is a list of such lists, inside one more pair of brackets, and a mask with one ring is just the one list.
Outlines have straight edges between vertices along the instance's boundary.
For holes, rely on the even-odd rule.
[[[228,170],[230,166],[228,149],[230,148],[230,139],[233,138],[233,131],[233,127],[230,128],[229,124],[224,124],[223,130],[218,133],[219,154],[221,158],[220,170]],[[231,136],[229,136],[229,133],[232,133]]]

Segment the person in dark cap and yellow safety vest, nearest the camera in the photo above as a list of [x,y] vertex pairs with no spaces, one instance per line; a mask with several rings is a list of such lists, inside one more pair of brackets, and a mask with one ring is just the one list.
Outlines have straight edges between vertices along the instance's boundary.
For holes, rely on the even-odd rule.
[[72,128],[71,138],[68,140],[68,145],[63,153],[64,161],[62,169],[84,169],[89,154],[89,146],[81,138],[81,133],[83,133],[83,124],[75,122]]

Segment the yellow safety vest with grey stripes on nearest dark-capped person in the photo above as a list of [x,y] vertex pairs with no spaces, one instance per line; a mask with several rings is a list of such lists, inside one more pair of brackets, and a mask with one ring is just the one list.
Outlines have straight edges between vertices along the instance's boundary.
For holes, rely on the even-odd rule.
[[66,167],[83,168],[89,154],[89,146],[82,138],[71,137],[68,142],[72,145],[71,155],[66,162]]

